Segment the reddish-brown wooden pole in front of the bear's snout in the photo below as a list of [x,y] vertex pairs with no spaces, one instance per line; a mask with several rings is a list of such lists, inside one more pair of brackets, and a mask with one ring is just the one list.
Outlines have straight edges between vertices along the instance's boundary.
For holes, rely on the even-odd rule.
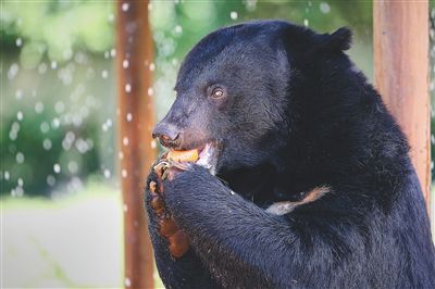
[[153,111],[148,89],[152,40],[148,0],[117,1],[117,97],[120,175],[124,199],[125,287],[152,288],[153,257],[142,192],[154,160]]

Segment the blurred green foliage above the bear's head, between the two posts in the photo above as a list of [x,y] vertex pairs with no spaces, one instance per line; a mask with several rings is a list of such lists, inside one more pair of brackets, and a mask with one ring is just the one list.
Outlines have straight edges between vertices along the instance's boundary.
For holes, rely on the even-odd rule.
[[259,18],[286,20],[321,33],[349,26],[355,32],[356,46],[365,49],[361,65],[369,76],[372,75],[371,61],[368,61],[371,60],[372,41],[371,1],[152,1],[151,24],[157,55],[183,58],[210,32]]

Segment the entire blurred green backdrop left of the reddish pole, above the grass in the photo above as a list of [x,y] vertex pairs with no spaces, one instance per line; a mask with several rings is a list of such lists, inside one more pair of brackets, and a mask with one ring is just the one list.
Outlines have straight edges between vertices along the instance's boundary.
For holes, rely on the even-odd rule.
[[0,193],[75,191],[90,174],[115,175],[114,10],[1,2]]

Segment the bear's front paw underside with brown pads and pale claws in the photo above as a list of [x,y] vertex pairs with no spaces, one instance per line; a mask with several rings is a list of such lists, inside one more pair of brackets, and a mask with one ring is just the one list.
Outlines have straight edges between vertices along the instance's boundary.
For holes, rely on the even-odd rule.
[[185,231],[178,228],[166,208],[164,183],[173,180],[178,173],[188,168],[188,164],[161,160],[153,166],[156,177],[148,184],[151,197],[149,204],[158,217],[159,233],[167,239],[169,250],[174,257],[181,257],[188,251],[189,238]]

